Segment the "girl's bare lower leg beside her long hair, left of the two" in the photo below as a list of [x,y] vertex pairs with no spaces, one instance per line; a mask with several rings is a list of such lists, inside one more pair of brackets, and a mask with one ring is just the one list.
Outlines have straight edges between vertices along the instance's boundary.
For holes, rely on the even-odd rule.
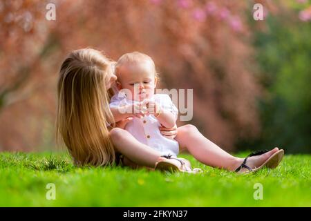
[[135,164],[154,168],[156,162],[162,159],[158,151],[140,143],[128,131],[121,128],[113,128],[110,131],[110,135],[117,151]]

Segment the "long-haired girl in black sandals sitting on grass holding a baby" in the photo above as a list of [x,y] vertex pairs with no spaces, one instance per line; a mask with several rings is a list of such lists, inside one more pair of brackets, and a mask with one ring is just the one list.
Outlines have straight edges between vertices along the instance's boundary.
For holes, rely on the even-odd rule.
[[[138,142],[128,131],[107,125],[114,122],[109,108],[109,93],[117,79],[113,61],[91,48],[74,50],[64,60],[59,71],[57,137],[64,140],[75,164],[103,166],[115,162],[117,153],[140,166],[173,165],[183,169],[180,162],[161,157],[159,151]],[[124,125],[131,118],[117,124]],[[174,137],[176,129],[160,128],[162,135]],[[235,171],[260,169],[263,165],[277,166],[283,151],[272,149],[249,158],[234,157],[200,134],[195,126],[178,128],[176,141],[181,149],[187,148],[197,160],[209,166]],[[124,159],[124,160],[125,160]],[[246,162],[247,159],[247,162]],[[169,168],[169,166],[167,166]]]

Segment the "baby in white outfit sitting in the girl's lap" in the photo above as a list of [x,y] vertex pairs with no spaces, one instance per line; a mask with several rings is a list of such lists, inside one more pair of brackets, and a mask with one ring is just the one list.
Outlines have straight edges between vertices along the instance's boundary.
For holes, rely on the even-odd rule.
[[126,124],[126,131],[162,155],[176,157],[178,142],[161,135],[159,126],[172,128],[178,109],[169,95],[154,94],[158,77],[151,57],[140,52],[122,55],[115,66],[115,75],[118,93],[110,104],[115,122],[133,117]]

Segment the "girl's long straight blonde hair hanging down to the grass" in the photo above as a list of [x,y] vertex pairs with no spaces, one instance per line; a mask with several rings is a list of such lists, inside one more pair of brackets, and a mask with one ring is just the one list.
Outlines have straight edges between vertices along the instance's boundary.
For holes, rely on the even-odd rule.
[[107,125],[113,122],[106,82],[112,61],[98,50],[73,50],[59,71],[57,145],[62,137],[76,165],[115,162]]

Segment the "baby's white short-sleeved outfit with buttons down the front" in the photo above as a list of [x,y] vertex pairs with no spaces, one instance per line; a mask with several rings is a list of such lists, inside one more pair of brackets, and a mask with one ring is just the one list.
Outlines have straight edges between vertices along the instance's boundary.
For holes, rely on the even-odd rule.
[[[178,116],[178,109],[171,101],[171,97],[166,94],[156,94],[151,98],[164,110],[171,111]],[[133,104],[133,100],[126,99],[124,95],[120,93],[111,97],[110,106],[120,107],[128,104]],[[160,122],[154,115],[145,115],[141,119],[134,117],[131,122],[126,124],[126,131],[129,131],[133,137],[135,137],[142,144],[146,144],[151,148],[159,151],[162,155],[172,155],[176,157],[179,153],[179,144],[176,140],[168,139],[160,133]]]

